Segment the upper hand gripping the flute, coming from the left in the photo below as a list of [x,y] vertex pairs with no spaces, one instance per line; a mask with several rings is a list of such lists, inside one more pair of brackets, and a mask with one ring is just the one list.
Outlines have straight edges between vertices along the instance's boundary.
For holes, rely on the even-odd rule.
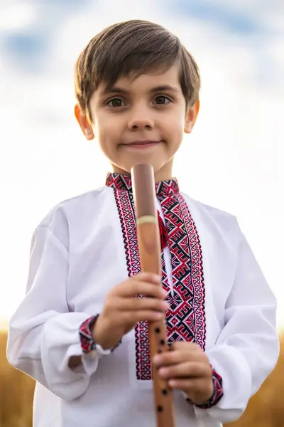
[[[137,298],[137,295],[147,297]],[[137,322],[159,320],[168,310],[166,295],[160,287],[160,277],[152,273],[140,273],[117,285],[107,295],[94,324],[94,342],[104,349],[113,348]]]

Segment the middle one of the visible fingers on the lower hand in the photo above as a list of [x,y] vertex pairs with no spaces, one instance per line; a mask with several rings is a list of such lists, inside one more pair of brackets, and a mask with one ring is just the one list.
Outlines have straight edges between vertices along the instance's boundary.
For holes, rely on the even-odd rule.
[[199,362],[184,362],[158,369],[159,375],[164,379],[175,378],[202,378],[211,377],[209,365]]

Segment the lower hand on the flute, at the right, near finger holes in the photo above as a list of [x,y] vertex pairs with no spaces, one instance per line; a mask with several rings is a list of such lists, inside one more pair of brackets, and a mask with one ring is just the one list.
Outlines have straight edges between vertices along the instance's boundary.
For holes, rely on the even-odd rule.
[[171,389],[182,390],[197,405],[211,399],[214,387],[207,355],[192,342],[175,342],[170,351],[154,358],[160,376],[168,379]]

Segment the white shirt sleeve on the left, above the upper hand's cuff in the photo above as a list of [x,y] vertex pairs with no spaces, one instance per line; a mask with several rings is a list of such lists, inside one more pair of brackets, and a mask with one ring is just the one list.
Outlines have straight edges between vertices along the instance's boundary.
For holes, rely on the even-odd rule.
[[[33,235],[26,297],[9,322],[7,358],[57,396],[72,400],[86,391],[99,355],[84,354],[80,344],[80,325],[94,313],[70,312],[67,305],[67,234],[66,219],[55,213]],[[82,356],[77,369],[68,367],[71,356]]]

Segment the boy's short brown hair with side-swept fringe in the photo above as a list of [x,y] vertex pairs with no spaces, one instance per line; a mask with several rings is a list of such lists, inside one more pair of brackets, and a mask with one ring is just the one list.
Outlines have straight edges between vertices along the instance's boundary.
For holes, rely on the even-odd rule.
[[138,76],[178,62],[186,105],[199,99],[200,73],[180,39],[148,21],[125,21],[105,28],[84,48],[75,65],[77,102],[89,115],[89,100],[100,83],[111,88],[119,77]]

